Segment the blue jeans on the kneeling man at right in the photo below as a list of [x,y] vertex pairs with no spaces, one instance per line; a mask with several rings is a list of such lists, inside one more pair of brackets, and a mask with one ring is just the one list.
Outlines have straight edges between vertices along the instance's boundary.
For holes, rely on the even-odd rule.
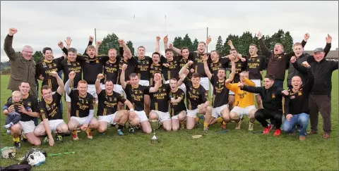
[[287,133],[295,132],[295,125],[299,124],[299,136],[306,136],[307,126],[309,125],[309,115],[307,113],[300,113],[298,115],[293,115],[290,120],[285,120],[283,124],[283,130]]

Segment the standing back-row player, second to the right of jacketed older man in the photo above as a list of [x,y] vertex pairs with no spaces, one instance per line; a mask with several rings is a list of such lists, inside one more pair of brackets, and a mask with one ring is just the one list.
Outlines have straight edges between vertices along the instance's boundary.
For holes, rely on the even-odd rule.
[[[70,83],[71,89],[76,89],[78,82],[82,78],[81,62],[76,61],[76,49],[69,48],[69,53],[67,54],[67,60],[61,61],[60,69],[64,72],[64,84],[69,80],[69,73],[75,72],[76,76],[73,79],[73,82]],[[65,101],[67,105],[67,120],[71,120],[71,98],[68,94],[65,95]]]

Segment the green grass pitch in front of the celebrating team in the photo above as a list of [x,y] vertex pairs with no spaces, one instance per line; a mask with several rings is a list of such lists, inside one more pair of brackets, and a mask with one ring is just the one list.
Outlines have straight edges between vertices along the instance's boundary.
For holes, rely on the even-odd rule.
[[[8,78],[1,76],[1,104],[11,93],[6,89]],[[251,134],[244,122],[240,130],[231,123],[227,126],[230,132],[200,139],[192,139],[191,135],[202,134],[202,127],[178,132],[159,129],[160,144],[150,145],[150,135],[141,132],[131,135],[125,129],[126,135],[119,137],[111,127],[103,136],[94,132],[92,140],[81,132],[76,142],[64,137],[53,147],[43,144],[40,148],[47,153],[76,153],[48,157],[46,163],[34,170],[338,170],[338,71],[333,73],[332,97],[333,132],[328,140],[321,134],[311,135],[306,141],[285,133],[278,138],[273,137],[273,132],[268,136]],[[13,146],[11,137],[2,128],[4,115],[0,119],[1,146]],[[321,125],[319,116],[320,133]],[[263,127],[256,122],[254,129],[261,131]],[[220,123],[210,127],[210,132],[219,130]],[[23,156],[30,148],[30,144],[23,143],[16,156]],[[1,165],[13,163],[1,160]]]

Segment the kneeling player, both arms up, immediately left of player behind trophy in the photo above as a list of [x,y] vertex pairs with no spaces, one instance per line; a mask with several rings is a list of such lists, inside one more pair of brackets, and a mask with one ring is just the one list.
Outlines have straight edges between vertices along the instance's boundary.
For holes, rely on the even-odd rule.
[[131,73],[129,76],[130,83],[127,84],[125,81],[125,70],[127,65],[122,66],[122,72],[120,77],[121,87],[126,91],[126,94],[131,94],[131,103],[133,103],[133,109],[130,110],[134,111],[135,113],[129,113],[129,124],[131,125],[130,132],[134,133],[134,127],[138,124],[141,125],[141,129],[146,134],[150,134],[152,129],[150,129],[150,122],[146,116],[144,111],[144,96],[145,94],[150,94],[155,91],[160,86],[160,80],[155,80],[155,87],[143,86],[139,84],[139,78],[136,73]]

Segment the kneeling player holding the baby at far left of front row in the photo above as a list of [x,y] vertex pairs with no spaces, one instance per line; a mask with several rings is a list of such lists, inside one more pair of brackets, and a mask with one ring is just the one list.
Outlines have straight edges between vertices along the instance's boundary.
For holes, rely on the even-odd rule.
[[[19,112],[23,113],[21,115],[21,120],[11,126],[11,135],[13,137],[14,146],[20,148],[20,134],[22,132],[22,137],[28,139],[28,142],[34,146],[40,146],[41,141],[39,137],[36,137],[34,134],[35,124],[33,120],[39,117],[37,113],[37,98],[32,96],[28,92],[30,91],[30,84],[28,82],[21,82],[19,86],[20,93],[23,96],[23,103],[25,106],[32,108],[32,111],[25,110],[23,106],[19,106]],[[3,111],[4,115],[11,113],[15,110],[14,106],[8,106],[7,109]]]

